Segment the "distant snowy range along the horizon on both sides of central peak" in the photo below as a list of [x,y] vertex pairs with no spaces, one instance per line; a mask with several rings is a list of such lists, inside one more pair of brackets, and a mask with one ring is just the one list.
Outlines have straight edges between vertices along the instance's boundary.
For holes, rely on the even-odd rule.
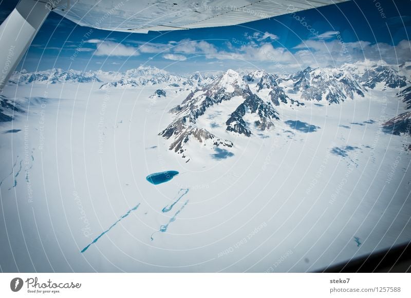
[[[389,66],[373,64],[366,67],[357,64],[344,64],[339,68],[311,68],[294,74],[271,74],[264,70],[253,71],[243,76],[247,84],[256,84],[256,92],[263,89],[271,92],[274,104],[286,103],[292,96],[287,93],[301,91],[304,100],[326,100],[329,103],[340,103],[353,94],[362,95],[366,89],[377,85],[389,88],[407,86],[411,74],[411,65]],[[168,84],[172,87],[197,87],[210,85],[221,74],[196,72],[189,76],[172,74],[156,67],[139,67],[125,72],[116,71],[77,71],[53,68],[50,70],[14,72],[9,84],[56,84],[56,83],[102,83],[100,89],[135,88],[145,85]],[[290,84],[292,83],[292,84]],[[409,82],[408,82],[409,83]],[[292,86],[290,86],[292,85]],[[284,88],[291,87],[284,93]],[[276,100],[279,100],[278,103]],[[293,98],[296,100],[296,98]]]

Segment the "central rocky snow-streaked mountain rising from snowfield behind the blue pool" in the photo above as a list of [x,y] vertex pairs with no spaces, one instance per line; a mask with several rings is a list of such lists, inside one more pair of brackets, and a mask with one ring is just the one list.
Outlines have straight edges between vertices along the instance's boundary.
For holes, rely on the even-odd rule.
[[[208,145],[210,149],[218,146],[232,147],[231,141],[197,126],[198,118],[209,108],[227,102],[239,104],[234,104],[231,114],[223,120],[226,132],[250,136],[252,130],[269,129],[279,119],[271,103],[261,100],[237,72],[229,69],[212,84],[192,91],[180,105],[174,107],[170,111],[175,114],[174,121],[160,135],[167,139],[173,138],[170,150],[177,153],[186,151],[184,144],[192,139]],[[246,117],[252,117],[253,123],[247,122]]]

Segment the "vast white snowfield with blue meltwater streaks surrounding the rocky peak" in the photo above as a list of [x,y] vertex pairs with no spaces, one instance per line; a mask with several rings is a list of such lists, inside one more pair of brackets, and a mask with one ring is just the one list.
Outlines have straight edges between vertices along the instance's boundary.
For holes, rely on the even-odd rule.
[[[247,136],[227,131],[245,101],[229,91],[254,87],[226,74],[212,82],[227,92],[198,94],[168,82],[100,89],[99,76],[8,86],[22,112],[4,110],[14,120],[0,123],[2,270],[305,272],[411,239],[410,139],[381,126],[405,111],[398,88],[331,105],[302,90],[286,93],[304,106],[261,97],[278,120]],[[166,97],[151,97],[158,89]],[[233,146],[192,138],[186,162],[159,132],[191,91],[210,90],[230,100],[191,128]],[[179,172],[169,182],[146,181],[169,170]]]

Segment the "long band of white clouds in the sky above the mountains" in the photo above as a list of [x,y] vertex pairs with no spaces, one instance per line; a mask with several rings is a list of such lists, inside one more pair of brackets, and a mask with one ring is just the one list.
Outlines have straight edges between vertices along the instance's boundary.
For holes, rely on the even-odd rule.
[[134,44],[134,47],[100,39],[90,39],[89,43],[97,44],[95,54],[100,56],[160,53],[164,59],[172,61],[184,61],[188,56],[200,56],[211,62],[225,61],[223,63],[227,67],[229,64],[230,67],[233,67],[233,64],[238,67],[240,63],[244,63],[264,69],[276,68],[283,72],[284,70],[292,72],[307,66],[339,66],[344,63],[364,61],[364,59],[383,60],[389,64],[411,61],[411,46],[408,41],[402,41],[397,46],[385,43],[371,44],[364,41],[345,43],[337,31],[327,31],[319,37],[321,38],[315,37],[302,41],[290,50],[279,45],[274,46],[271,42],[278,37],[269,32],[254,32],[251,36],[247,35],[244,40],[249,42],[239,45],[226,42],[218,46],[208,41],[191,39],[163,44],[129,41],[128,44]]

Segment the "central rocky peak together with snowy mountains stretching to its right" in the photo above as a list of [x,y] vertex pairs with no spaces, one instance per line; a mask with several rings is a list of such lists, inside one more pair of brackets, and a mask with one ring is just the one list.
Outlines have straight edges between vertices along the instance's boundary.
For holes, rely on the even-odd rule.
[[[199,74],[194,78],[202,80]],[[231,147],[233,142],[228,143],[232,140],[230,135],[222,137],[220,133],[217,137],[213,126],[201,121],[203,126],[200,127],[198,119],[203,119],[210,108],[230,101],[235,102],[238,97],[241,98],[241,102],[232,107],[235,109],[230,111],[228,118],[223,119],[227,114],[219,114],[216,116],[217,122],[225,124],[226,132],[249,137],[253,131],[270,129],[275,121],[279,120],[274,106],[286,105],[296,108],[304,106],[305,101],[341,104],[347,100],[365,97],[369,89],[397,89],[404,84],[405,76],[399,76],[393,67],[377,64],[371,69],[354,64],[346,64],[340,68],[307,67],[288,76],[257,70],[241,77],[237,72],[228,70],[212,84],[192,90],[180,105],[172,108],[170,112],[174,114],[174,120],[160,135],[167,139],[174,138],[170,150],[179,153],[186,150],[184,144],[192,139],[199,143],[206,142],[209,138],[218,140],[211,144],[211,148],[220,145]],[[398,96],[403,97],[404,102],[408,103],[410,94],[411,90],[408,87],[401,90]],[[404,120],[403,117],[390,121],[397,123],[401,120]]]

